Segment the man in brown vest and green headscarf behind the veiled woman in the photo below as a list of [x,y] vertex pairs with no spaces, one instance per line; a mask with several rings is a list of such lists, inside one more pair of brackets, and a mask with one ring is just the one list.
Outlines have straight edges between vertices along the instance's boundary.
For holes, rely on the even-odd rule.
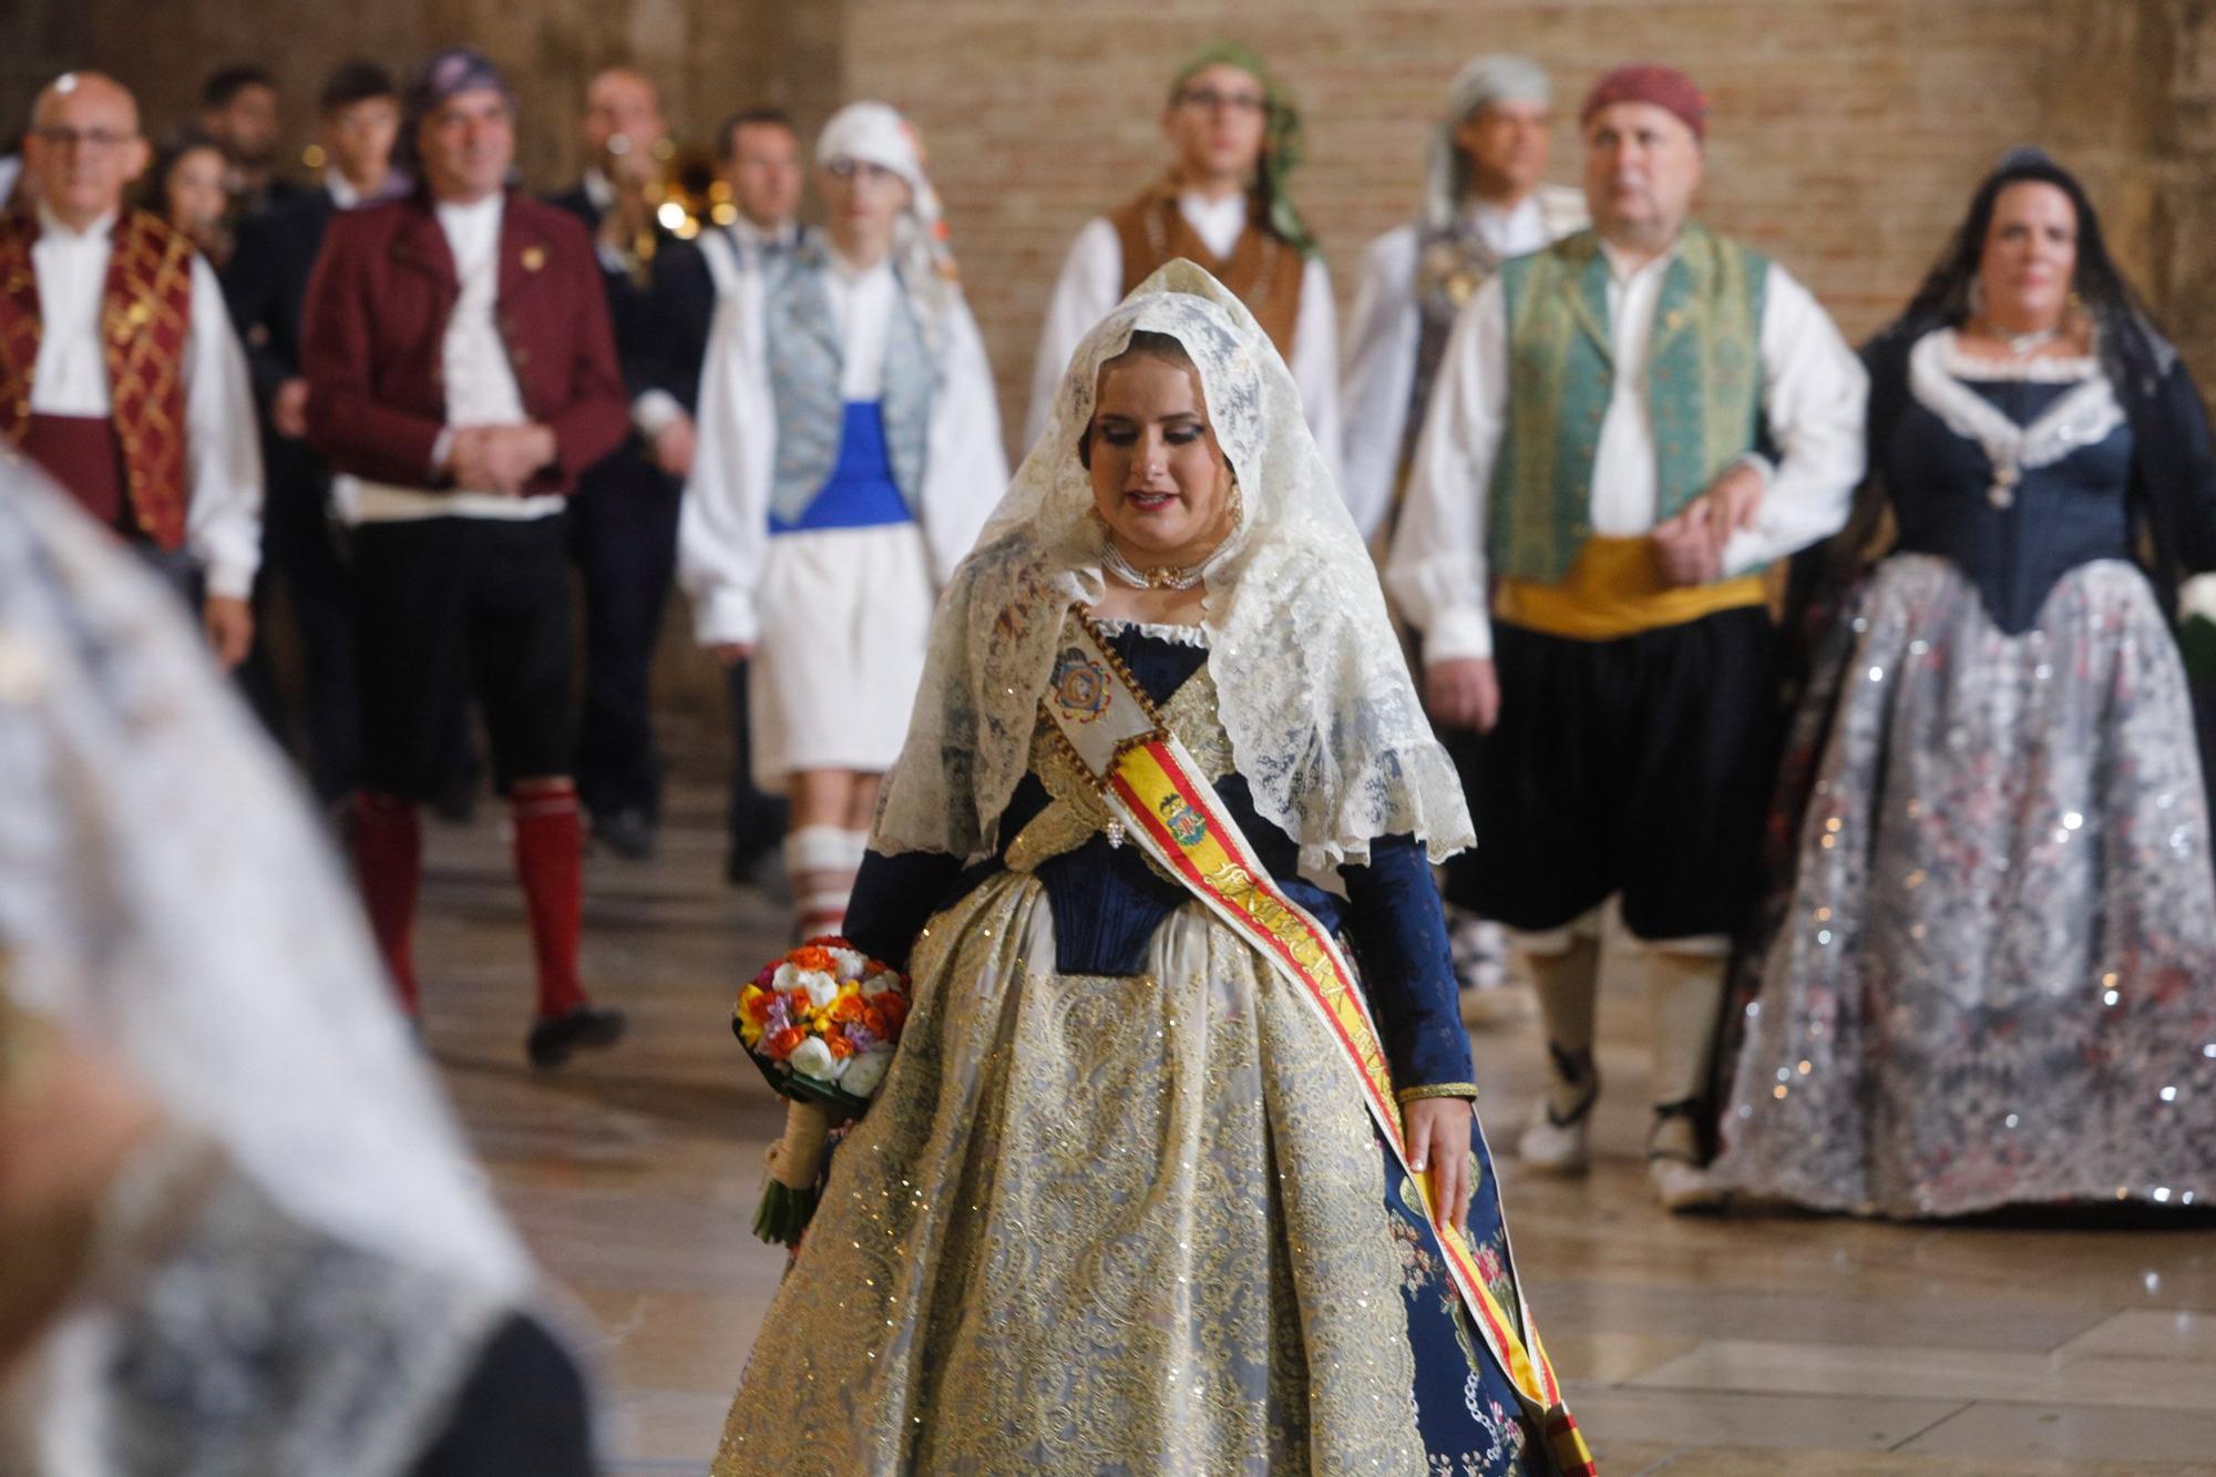
[[1170,84],[1170,171],[1077,233],[1046,306],[1024,444],[1046,430],[1077,342],[1155,268],[1190,257],[1239,293],[1301,386],[1301,408],[1338,470],[1338,322],[1332,277],[1292,208],[1301,115],[1245,47],[1210,47]]

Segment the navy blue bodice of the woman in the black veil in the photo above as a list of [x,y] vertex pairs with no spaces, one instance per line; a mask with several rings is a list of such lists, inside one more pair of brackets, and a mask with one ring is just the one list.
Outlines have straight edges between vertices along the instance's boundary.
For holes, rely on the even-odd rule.
[[[2076,381],[1963,384],[2017,426],[2030,426],[2079,388]],[[1912,397],[1877,455],[1899,523],[1899,548],[1952,561],[1977,585],[1992,623],[2008,634],[2030,630],[2048,592],[2076,566],[2132,557],[2127,421],[2061,461],[2023,468],[2005,508],[1994,508],[1988,497],[1994,468],[1986,448],[1955,435]]]

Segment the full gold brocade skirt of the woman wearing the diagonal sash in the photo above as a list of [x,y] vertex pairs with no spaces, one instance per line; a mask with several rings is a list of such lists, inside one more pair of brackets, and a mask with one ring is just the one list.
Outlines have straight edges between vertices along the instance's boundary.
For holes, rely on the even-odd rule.
[[1053,960],[1022,874],[917,943],[716,1473],[1525,1473],[1540,1444],[1312,1007],[1197,905],[1146,976]]

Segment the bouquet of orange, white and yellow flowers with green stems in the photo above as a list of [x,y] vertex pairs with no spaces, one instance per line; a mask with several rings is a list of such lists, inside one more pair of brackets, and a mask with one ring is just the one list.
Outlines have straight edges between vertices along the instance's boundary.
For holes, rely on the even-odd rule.
[[800,1242],[815,1215],[831,1127],[869,1107],[906,1020],[909,976],[844,938],[811,938],[738,991],[731,1031],[787,1098],[784,1138],[769,1147],[769,1182],[753,1213],[765,1242]]

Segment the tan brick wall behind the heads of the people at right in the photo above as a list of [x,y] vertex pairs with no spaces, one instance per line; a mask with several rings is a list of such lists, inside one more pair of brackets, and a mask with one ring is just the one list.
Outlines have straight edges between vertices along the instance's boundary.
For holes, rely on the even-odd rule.
[[[2132,2],[2041,0],[849,0],[847,75],[913,111],[993,364],[1017,410],[1070,235],[1161,169],[1155,118],[1203,40],[1259,44],[1307,113],[1299,200],[1341,304],[1363,244],[1409,215],[1425,126],[1460,62],[1511,49],[1558,84],[1556,171],[1578,177],[1576,100],[1607,67],[1666,60],[1711,93],[1704,217],[1808,282],[1848,335],[1939,253],[1990,160],[2037,140],[2059,35]],[[2181,7],[2183,9],[2183,7]],[[2103,29],[2130,71],[2158,22]],[[2110,120],[2081,135],[2103,137]],[[2132,144],[2105,146],[2132,155]],[[2116,171],[2110,171],[2116,173]]]

